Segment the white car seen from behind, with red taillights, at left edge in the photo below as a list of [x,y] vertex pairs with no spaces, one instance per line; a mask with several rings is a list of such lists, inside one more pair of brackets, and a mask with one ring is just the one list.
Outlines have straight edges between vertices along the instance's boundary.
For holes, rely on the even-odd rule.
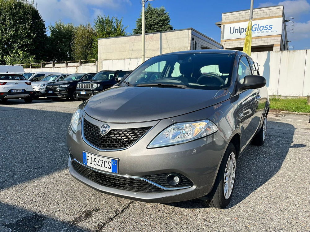
[[23,75],[17,73],[0,73],[0,100],[22,98],[26,103],[33,100],[33,88],[31,82]]

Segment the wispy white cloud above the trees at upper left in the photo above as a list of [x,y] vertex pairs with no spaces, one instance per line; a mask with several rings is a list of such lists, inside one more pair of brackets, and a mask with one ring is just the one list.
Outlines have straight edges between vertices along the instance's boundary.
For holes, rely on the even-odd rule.
[[68,20],[74,24],[93,22],[105,8],[120,8],[131,5],[130,0],[35,0],[43,19],[49,23]]

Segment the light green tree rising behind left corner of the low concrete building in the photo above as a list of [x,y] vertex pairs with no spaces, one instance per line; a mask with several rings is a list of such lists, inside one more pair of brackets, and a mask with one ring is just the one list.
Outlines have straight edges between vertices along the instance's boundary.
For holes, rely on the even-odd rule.
[[127,33],[125,30],[128,26],[124,27],[123,18],[118,19],[116,17],[110,18],[110,16],[101,16],[98,15],[95,20],[94,29],[95,29],[95,38],[92,49],[92,59],[98,59],[98,39],[108,38],[108,37],[117,37],[117,36],[126,36]]

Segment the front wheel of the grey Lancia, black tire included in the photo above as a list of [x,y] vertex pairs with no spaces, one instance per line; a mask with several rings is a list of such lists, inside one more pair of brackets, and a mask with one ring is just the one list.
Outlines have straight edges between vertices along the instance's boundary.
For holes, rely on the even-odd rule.
[[[229,159],[229,162],[228,162]],[[232,163],[231,169],[226,171],[226,168],[229,167],[229,164]],[[215,183],[213,186],[212,191],[207,195],[207,200],[205,203],[208,206],[224,209],[229,204],[232,193],[235,187],[235,181],[236,181],[236,167],[237,167],[237,152],[236,148],[232,143],[228,144],[228,147],[226,149],[226,152],[224,154],[223,160],[221,162],[221,165],[219,167],[218,174],[215,179]],[[227,175],[225,175],[227,173]],[[225,177],[227,177],[227,181],[224,181]],[[230,182],[230,180],[232,182]],[[228,183],[232,183],[232,188],[228,189],[228,186],[231,186]],[[226,185],[225,185],[226,184]],[[226,186],[226,188],[225,188]],[[227,191],[224,190],[227,189]],[[225,194],[226,193],[226,194]]]

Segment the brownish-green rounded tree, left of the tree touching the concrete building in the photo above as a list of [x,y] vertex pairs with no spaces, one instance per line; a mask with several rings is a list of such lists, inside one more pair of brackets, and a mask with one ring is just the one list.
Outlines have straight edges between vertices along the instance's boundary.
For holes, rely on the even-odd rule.
[[95,31],[91,24],[79,25],[73,35],[72,56],[75,60],[92,58]]

